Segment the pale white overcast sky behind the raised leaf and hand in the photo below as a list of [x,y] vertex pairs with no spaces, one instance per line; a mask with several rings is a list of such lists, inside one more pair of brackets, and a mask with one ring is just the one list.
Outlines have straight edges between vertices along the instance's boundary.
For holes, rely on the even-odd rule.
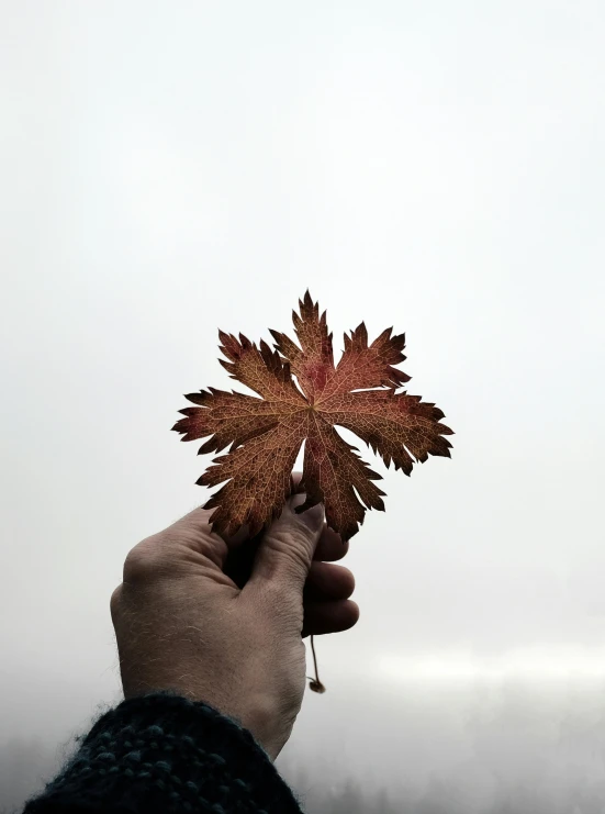
[[411,479],[361,449],[388,493],[361,617],[288,749],[329,720],[355,751],[360,707],[393,741],[365,704],[411,682],[605,679],[603,3],[0,10],[1,737],[119,699],[123,559],[208,498],[182,393],[231,387],[217,330],[290,332],[306,288],[336,352],[405,332],[456,435]]

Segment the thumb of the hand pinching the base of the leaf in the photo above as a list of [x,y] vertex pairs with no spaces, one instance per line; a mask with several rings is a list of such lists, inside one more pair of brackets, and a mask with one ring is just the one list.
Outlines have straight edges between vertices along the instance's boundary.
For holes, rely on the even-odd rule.
[[322,503],[296,514],[294,508],[304,500],[304,494],[290,498],[280,517],[266,531],[250,582],[257,586],[267,580],[281,582],[290,589],[300,589],[302,593],[325,516]]

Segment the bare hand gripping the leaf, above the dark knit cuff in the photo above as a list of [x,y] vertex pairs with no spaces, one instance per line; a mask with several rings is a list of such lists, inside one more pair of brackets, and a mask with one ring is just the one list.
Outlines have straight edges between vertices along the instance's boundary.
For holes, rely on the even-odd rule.
[[126,557],[111,598],[124,696],[173,690],[251,732],[271,759],[287,743],[305,688],[303,637],[352,627],[348,544],[304,494],[250,540],[223,539],[197,509]]

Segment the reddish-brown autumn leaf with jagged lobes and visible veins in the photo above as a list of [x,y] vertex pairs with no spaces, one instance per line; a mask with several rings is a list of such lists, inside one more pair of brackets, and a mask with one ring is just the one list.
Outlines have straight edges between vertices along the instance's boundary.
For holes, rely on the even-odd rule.
[[[232,379],[260,398],[209,388],[186,398],[195,404],[172,427],[182,441],[206,438],[200,454],[221,451],[214,466],[198,483],[224,486],[205,504],[214,509],[210,521],[220,534],[234,534],[242,525],[250,535],[277,517],[291,493],[291,473],[304,442],[300,488],[305,511],[323,502],[327,524],[348,539],[359,531],[367,509],[384,510],[382,492],[372,471],[336,431],[354,432],[389,467],[412,472],[415,461],[429,455],[450,457],[445,435],[452,431],[439,423],[441,410],[419,395],[397,390],[410,377],[396,368],[406,357],[405,334],[383,331],[368,345],[361,323],[334,364],[332,334],[325,312],[309,291],[293,312],[298,343],[271,331],[275,349],[239,334],[219,332],[220,359]],[[209,437],[210,436],[210,437]]]

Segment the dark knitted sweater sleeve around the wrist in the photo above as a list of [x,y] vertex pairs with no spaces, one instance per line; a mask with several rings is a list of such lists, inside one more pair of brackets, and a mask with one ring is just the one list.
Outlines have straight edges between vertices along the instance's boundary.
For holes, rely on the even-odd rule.
[[159,692],[123,701],[23,814],[301,814],[251,734],[213,707]]

